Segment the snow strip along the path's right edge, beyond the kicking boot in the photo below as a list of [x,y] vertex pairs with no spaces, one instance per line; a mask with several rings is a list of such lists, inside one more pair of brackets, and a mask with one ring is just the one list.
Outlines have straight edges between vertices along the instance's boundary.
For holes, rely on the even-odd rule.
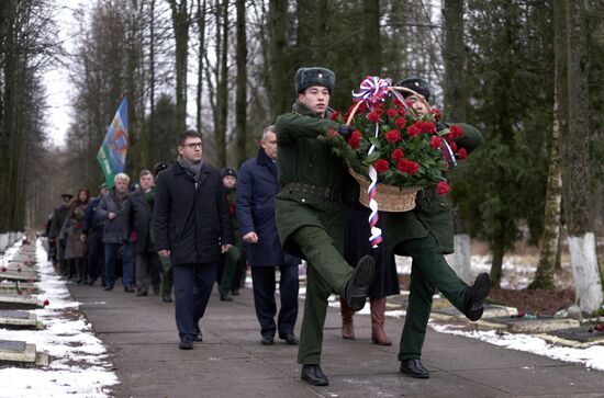
[[549,344],[545,340],[529,334],[497,334],[494,330],[465,331],[459,329],[462,328],[461,326],[456,327],[450,325],[429,323],[429,326],[441,333],[465,336],[506,349],[530,352],[563,362],[581,363],[589,368],[604,371],[604,346],[602,345],[593,345],[588,349],[572,349]]

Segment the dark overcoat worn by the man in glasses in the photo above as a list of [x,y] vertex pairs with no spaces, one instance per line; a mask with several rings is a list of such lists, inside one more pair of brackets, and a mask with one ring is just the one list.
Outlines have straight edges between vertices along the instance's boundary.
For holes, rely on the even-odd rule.
[[221,245],[233,245],[222,179],[208,162],[198,179],[179,163],[164,170],[154,213],[155,250],[170,250],[172,264],[217,262]]

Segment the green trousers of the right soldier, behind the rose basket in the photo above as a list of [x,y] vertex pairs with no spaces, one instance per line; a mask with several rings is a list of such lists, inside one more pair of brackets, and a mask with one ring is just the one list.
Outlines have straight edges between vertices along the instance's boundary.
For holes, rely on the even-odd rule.
[[463,311],[468,285],[447,264],[438,243],[430,235],[403,241],[396,246],[395,252],[413,259],[409,307],[399,349],[399,361],[404,361],[422,356],[435,289]]

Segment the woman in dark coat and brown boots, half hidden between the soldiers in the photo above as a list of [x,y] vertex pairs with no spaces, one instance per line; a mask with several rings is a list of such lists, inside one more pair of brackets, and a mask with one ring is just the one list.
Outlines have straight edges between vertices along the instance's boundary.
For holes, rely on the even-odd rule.
[[[362,195],[362,193],[361,193]],[[399,274],[394,253],[382,242],[376,249],[369,243],[369,214],[371,211],[356,208],[348,212],[344,225],[344,258],[349,264],[357,264],[367,254],[376,259],[376,277],[369,287],[371,305],[371,340],[376,344],[391,345],[392,341],[383,330],[385,297],[400,294]],[[378,227],[381,224],[378,221]],[[354,339],[353,316],[355,311],[340,298],[342,337]]]

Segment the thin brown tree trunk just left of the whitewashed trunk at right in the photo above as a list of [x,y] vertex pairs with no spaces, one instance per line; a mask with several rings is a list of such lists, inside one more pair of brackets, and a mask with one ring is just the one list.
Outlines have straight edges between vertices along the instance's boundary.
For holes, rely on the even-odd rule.
[[539,253],[539,265],[535,280],[528,288],[553,288],[553,273],[558,261],[560,247],[560,212],[562,203],[562,169],[560,159],[560,128],[566,115],[568,103],[564,102],[560,111],[560,99],[568,95],[567,91],[567,33],[564,21],[564,9],[562,1],[553,2],[553,48],[555,48],[555,71],[553,71],[553,123],[551,128],[551,144],[549,150],[549,170],[547,177],[546,209],[544,217],[544,232],[541,235],[541,248]]

